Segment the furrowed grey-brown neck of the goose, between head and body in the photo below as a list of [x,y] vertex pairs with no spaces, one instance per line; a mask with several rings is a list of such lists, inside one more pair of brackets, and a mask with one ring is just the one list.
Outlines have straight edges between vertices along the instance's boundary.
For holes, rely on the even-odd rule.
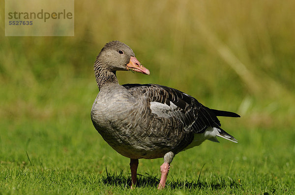
[[119,84],[116,71],[109,71],[101,66],[101,64],[94,64],[94,74],[99,90],[105,86]]

